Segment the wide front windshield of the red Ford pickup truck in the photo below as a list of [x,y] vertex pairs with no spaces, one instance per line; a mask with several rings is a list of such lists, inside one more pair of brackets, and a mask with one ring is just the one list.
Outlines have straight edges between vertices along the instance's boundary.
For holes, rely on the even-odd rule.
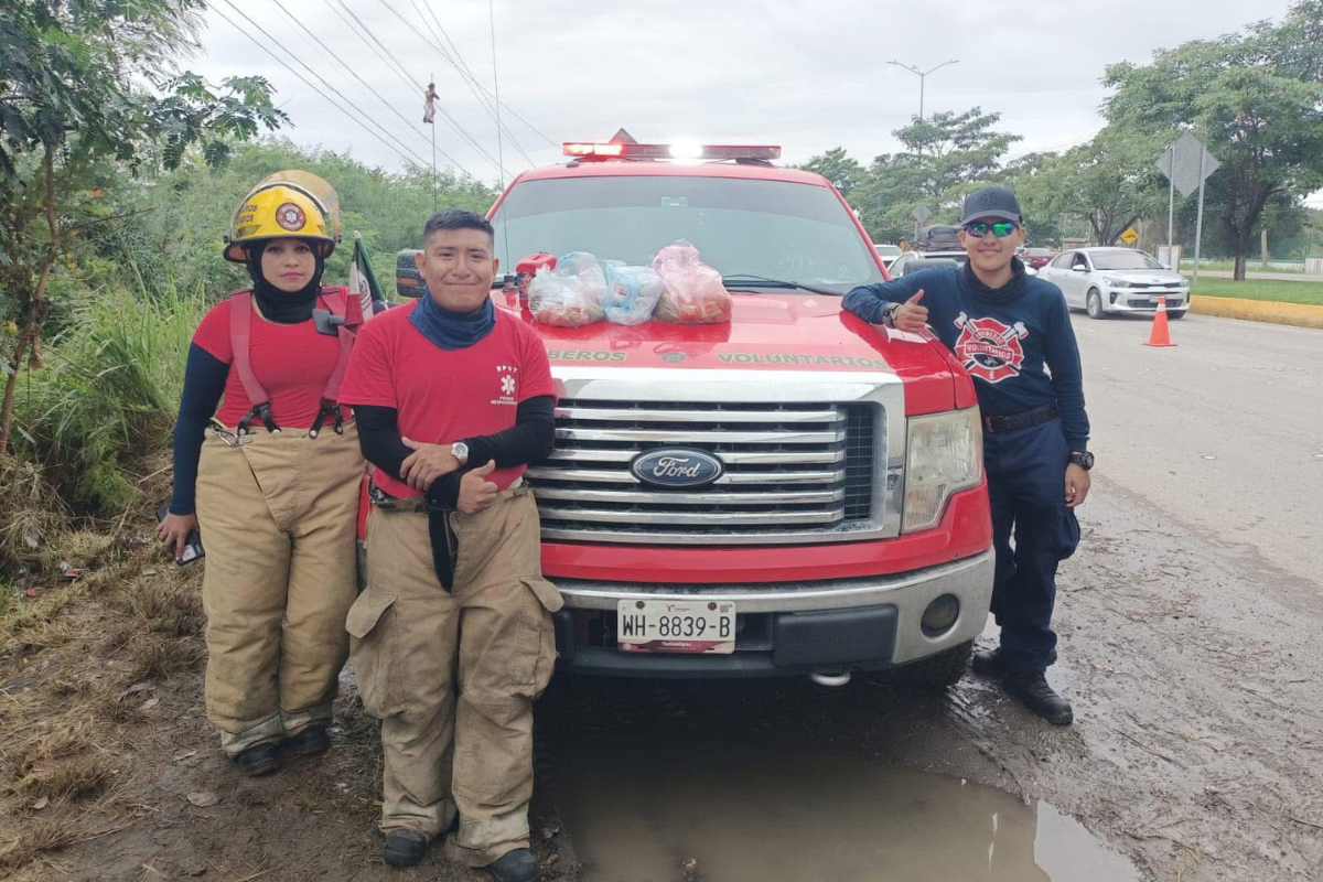
[[527,254],[589,251],[647,266],[688,239],[722,275],[803,282],[845,294],[881,282],[872,247],[826,186],[730,177],[523,181],[492,217],[512,271]]

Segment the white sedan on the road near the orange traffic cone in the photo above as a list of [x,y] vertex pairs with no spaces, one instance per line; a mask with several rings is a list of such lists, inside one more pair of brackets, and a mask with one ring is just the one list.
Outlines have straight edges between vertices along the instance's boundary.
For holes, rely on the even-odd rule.
[[1152,313],[1167,298],[1167,315],[1181,319],[1189,309],[1189,282],[1152,255],[1134,249],[1074,249],[1064,251],[1039,272],[1061,288],[1066,305],[1090,319],[1114,312]]

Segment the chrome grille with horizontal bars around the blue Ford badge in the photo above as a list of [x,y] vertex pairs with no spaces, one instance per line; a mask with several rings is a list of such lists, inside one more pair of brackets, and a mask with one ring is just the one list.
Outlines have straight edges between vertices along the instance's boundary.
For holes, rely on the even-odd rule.
[[[877,528],[882,438],[876,405],[562,399],[556,450],[525,477],[549,540],[847,541]],[[725,471],[705,487],[646,484],[630,463],[660,447],[703,450]]]

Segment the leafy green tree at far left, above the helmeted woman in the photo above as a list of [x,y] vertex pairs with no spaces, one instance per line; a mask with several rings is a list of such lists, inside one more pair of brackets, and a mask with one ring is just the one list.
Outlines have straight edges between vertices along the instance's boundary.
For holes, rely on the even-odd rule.
[[0,455],[17,372],[25,358],[41,366],[50,276],[89,176],[106,161],[175,167],[191,145],[220,164],[230,140],[287,122],[265,79],[213,89],[177,74],[201,9],[201,0],[11,0],[0,11],[0,309],[15,328],[0,362]]

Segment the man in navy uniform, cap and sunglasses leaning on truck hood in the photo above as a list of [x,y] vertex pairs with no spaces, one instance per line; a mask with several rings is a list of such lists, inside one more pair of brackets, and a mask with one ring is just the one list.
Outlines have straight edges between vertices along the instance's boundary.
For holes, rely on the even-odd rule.
[[1089,495],[1093,468],[1080,350],[1061,290],[1027,275],[1015,257],[1025,234],[1011,190],[971,193],[959,235],[963,266],[855,288],[844,308],[898,331],[930,324],[974,378],[996,549],[992,614],[1002,627],[1000,648],[975,653],[974,670],[1003,677],[1008,693],[1065,726],[1070,702],[1044,674],[1057,657],[1057,563],[1080,542],[1074,508]]

